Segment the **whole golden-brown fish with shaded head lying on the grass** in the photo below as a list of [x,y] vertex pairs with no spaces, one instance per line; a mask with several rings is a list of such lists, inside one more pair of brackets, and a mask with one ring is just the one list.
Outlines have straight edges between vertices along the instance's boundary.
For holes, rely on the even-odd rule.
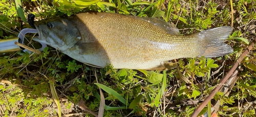
[[181,35],[161,19],[117,13],[86,12],[35,21],[45,43],[83,64],[115,69],[168,70],[169,60],[218,57],[233,52],[224,43],[231,26]]

